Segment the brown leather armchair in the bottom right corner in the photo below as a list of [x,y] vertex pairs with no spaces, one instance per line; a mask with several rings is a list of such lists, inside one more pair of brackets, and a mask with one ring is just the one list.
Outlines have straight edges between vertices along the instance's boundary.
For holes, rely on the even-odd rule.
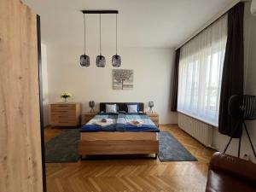
[[215,153],[210,161],[206,192],[255,192],[256,164]]

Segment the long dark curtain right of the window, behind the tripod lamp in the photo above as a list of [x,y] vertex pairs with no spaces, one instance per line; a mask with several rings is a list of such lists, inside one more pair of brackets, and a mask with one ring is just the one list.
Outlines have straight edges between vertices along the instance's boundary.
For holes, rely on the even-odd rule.
[[244,3],[236,4],[228,12],[228,39],[219,103],[218,131],[233,137],[241,136],[241,126],[236,119],[231,119],[228,103],[230,96],[243,94],[243,15]]

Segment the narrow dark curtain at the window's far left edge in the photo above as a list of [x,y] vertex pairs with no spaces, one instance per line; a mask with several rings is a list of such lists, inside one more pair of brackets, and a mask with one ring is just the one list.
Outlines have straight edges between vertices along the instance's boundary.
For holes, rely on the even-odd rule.
[[179,63],[180,49],[176,50],[174,73],[172,79],[172,103],[171,111],[177,111],[177,89],[178,89],[178,63]]

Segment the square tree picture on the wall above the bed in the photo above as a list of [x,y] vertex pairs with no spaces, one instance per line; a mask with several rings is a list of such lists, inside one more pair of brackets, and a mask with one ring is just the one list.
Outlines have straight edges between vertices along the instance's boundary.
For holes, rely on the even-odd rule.
[[113,90],[132,90],[133,70],[113,69]]

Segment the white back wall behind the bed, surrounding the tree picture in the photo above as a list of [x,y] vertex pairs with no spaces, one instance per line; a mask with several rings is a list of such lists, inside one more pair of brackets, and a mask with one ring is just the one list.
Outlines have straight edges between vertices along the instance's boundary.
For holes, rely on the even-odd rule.
[[80,67],[83,48],[48,46],[49,103],[61,102],[61,92],[73,95],[70,102],[82,102],[83,112],[89,111],[88,102],[144,102],[154,101],[154,110],[160,113],[160,124],[177,123],[171,113],[171,76],[173,49],[123,48],[119,51],[123,69],[134,70],[133,90],[112,89],[111,57],[114,48],[103,49],[105,68],[96,67],[96,48],[87,48],[90,67]]

